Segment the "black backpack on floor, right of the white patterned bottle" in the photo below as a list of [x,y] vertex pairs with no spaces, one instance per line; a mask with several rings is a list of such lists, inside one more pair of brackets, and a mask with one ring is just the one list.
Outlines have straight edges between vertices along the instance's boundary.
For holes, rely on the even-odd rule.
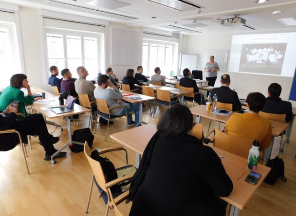
[[283,181],[287,181],[285,177],[285,164],[281,158],[276,157],[275,159],[269,160],[266,166],[270,167],[270,173],[265,178],[265,182],[274,185],[278,178]]

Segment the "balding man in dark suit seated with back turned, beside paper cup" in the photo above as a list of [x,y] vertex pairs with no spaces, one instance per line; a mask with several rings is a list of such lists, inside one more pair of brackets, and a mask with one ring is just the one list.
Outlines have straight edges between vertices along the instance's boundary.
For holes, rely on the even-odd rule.
[[231,80],[228,74],[221,76],[221,87],[215,88],[211,91],[211,98],[216,94],[218,102],[232,104],[232,111],[241,109],[240,99],[238,93],[229,88]]

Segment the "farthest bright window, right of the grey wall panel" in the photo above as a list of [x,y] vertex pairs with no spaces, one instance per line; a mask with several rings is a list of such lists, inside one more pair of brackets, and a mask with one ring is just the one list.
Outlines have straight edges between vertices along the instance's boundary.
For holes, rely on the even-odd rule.
[[[161,73],[169,77],[171,71],[176,72],[177,57],[174,54],[174,43],[158,43],[144,40],[142,66],[144,74],[153,75],[154,69],[160,67]],[[176,59],[173,61],[173,59]]]

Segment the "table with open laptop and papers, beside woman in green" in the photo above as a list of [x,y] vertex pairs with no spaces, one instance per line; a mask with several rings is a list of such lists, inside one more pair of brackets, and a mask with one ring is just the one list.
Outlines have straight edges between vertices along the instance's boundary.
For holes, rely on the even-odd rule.
[[[54,119],[58,117],[65,117],[67,121],[67,128],[68,128],[68,142],[67,144],[64,144],[60,149],[57,150],[55,154],[51,156],[51,162],[56,163],[56,160],[54,157],[61,152],[64,148],[69,146],[69,144],[81,144],[84,145],[84,143],[76,142],[72,140],[72,131],[71,131],[71,119],[72,116],[75,114],[81,114],[85,112],[90,112],[91,110],[85,107],[82,107],[78,104],[74,104],[74,108],[72,112],[65,112],[61,114],[56,114],[55,112],[51,111],[50,108],[52,107],[58,107],[59,106],[59,101],[58,101],[58,96],[53,95],[45,90],[42,90],[38,87],[32,87],[31,88],[32,93],[41,93],[45,92],[45,100],[44,102],[47,103],[42,103],[42,100],[39,100],[37,102],[34,102],[31,107],[36,109],[39,113],[41,113],[43,116],[45,116],[48,119]],[[50,101],[50,102],[49,102]]]

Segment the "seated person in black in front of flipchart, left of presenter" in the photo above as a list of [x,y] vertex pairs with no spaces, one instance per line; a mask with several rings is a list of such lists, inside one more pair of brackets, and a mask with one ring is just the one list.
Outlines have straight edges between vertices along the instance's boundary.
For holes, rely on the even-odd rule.
[[[193,92],[200,92],[200,90],[197,88],[196,82],[190,78],[191,72],[188,68],[185,68],[183,70],[184,77],[180,79],[180,86],[186,87],[186,88],[193,88]],[[202,96],[202,104],[205,105],[204,95],[202,94],[195,94],[194,95],[194,101],[197,102],[199,105],[201,105],[201,96]]]

